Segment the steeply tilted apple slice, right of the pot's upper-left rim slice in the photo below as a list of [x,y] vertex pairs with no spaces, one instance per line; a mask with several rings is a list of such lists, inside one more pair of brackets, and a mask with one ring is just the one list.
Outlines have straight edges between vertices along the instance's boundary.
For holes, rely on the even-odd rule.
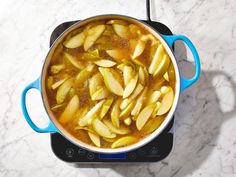
[[90,28],[87,31],[87,36],[84,41],[84,50],[87,51],[90,47],[93,46],[93,44],[96,42],[96,40],[100,37],[100,35],[104,32],[105,25],[97,25],[95,27]]

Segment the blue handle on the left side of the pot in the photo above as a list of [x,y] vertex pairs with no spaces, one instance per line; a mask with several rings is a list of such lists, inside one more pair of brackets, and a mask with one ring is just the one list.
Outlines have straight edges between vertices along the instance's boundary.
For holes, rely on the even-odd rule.
[[40,91],[40,81],[41,78],[39,77],[36,81],[30,83],[28,86],[26,86],[22,92],[21,95],[21,109],[23,112],[23,115],[26,119],[26,121],[28,122],[28,124],[30,125],[30,127],[39,133],[50,133],[50,132],[59,132],[58,129],[54,126],[54,124],[49,121],[48,126],[45,128],[39,128],[37,125],[34,124],[34,122],[31,120],[29,113],[27,111],[27,107],[26,107],[26,94],[30,89],[37,89]]

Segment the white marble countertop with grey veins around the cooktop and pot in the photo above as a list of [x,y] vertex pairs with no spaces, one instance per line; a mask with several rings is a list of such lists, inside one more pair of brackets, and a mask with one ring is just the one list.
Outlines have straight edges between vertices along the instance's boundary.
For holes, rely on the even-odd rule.
[[[152,19],[188,36],[202,63],[199,82],[181,95],[176,141],[159,163],[81,168],[55,157],[49,134],[33,132],[20,109],[24,86],[40,75],[49,37],[62,22],[117,13],[146,19],[144,0],[0,1],[0,176],[236,176],[236,1],[152,0]],[[184,56],[180,51],[178,56]],[[192,65],[179,61],[183,73]],[[40,94],[28,95],[30,115],[47,122]],[[44,119],[43,119],[44,117]]]

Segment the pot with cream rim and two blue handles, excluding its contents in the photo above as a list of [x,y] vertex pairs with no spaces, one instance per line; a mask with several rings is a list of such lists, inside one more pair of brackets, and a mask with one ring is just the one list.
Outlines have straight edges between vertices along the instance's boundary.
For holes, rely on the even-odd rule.
[[[167,117],[165,118],[165,120],[161,124],[161,126],[158,129],[156,129],[153,133],[151,133],[150,135],[148,135],[144,139],[140,140],[139,142],[137,142],[133,145],[129,145],[129,146],[126,146],[126,147],[121,147],[121,148],[116,148],[116,149],[98,148],[98,147],[95,147],[95,146],[91,146],[91,145],[88,145],[88,144],[78,140],[77,138],[75,138],[71,134],[69,134],[60,125],[60,123],[58,123],[58,121],[56,120],[56,118],[53,115],[52,111],[50,110],[49,103],[48,103],[48,98],[47,98],[47,94],[46,94],[46,85],[45,85],[47,68],[50,64],[52,54],[54,53],[54,50],[56,49],[58,44],[63,41],[64,37],[68,33],[70,33],[71,31],[73,31],[74,29],[79,28],[81,26],[84,26],[87,23],[90,23],[90,22],[93,22],[93,21],[98,21],[98,20],[108,20],[108,19],[126,20],[126,21],[129,21],[129,22],[133,23],[133,24],[141,25],[146,30],[148,30],[150,33],[152,33],[158,40],[160,40],[160,42],[163,44],[166,52],[170,56],[170,59],[171,59],[173,65],[174,65],[175,75],[176,75],[176,87],[175,87],[174,102],[173,102],[173,105],[171,107],[171,110],[169,111]],[[195,61],[195,74],[191,79],[184,79],[179,74],[179,69],[178,69],[176,59],[175,59],[175,56],[174,56],[174,53],[173,53],[173,50],[172,50],[173,43],[176,40],[182,40],[183,42],[185,42],[186,45],[189,47],[189,49],[192,52],[192,55],[193,55],[193,58],[194,58],[194,61]],[[184,91],[186,88],[188,88],[189,86],[191,86],[193,83],[195,83],[198,80],[199,75],[200,75],[199,56],[198,56],[198,53],[197,53],[194,45],[192,44],[192,42],[187,37],[185,37],[183,35],[170,35],[170,36],[169,35],[161,35],[160,33],[158,33],[158,31],[156,31],[154,28],[152,28],[151,26],[149,26],[145,22],[134,19],[132,17],[122,16],[122,15],[100,15],[100,16],[91,17],[91,18],[88,18],[88,19],[85,19],[83,21],[79,21],[79,22],[75,23],[74,25],[69,27],[67,30],[65,30],[57,38],[57,40],[53,43],[52,47],[50,48],[50,50],[47,54],[47,57],[45,59],[45,62],[44,62],[43,68],[42,68],[42,74],[40,75],[40,77],[37,80],[30,83],[23,90],[22,97],[21,97],[21,107],[22,107],[22,112],[23,112],[23,115],[24,115],[26,121],[28,122],[30,127],[36,132],[39,132],[39,133],[56,133],[56,132],[60,133],[65,138],[67,138],[69,141],[74,143],[75,145],[78,145],[78,146],[80,146],[84,149],[87,149],[89,151],[94,151],[94,152],[98,152],[98,153],[123,153],[123,152],[128,152],[128,151],[131,151],[131,150],[135,150],[139,147],[144,146],[148,142],[152,141],[155,137],[157,137],[165,129],[165,127],[169,124],[169,122],[171,121],[171,118],[174,114],[174,111],[176,109],[180,93],[182,91]],[[34,122],[31,120],[31,118],[29,117],[29,114],[28,114],[28,111],[27,111],[26,94],[27,94],[28,90],[30,90],[32,88],[37,89],[41,92],[44,107],[45,107],[45,110],[46,110],[46,112],[48,114],[48,117],[49,117],[49,123],[48,123],[47,127],[45,127],[45,128],[40,128],[37,125],[35,125]]]

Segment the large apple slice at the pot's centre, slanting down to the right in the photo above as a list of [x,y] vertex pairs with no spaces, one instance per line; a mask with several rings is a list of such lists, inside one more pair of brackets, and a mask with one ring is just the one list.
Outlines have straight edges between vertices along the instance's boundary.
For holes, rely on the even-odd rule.
[[102,67],[99,67],[98,69],[104,78],[104,83],[108,90],[116,95],[122,96],[124,90],[121,86],[121,83],[114,77],[111,70]]

